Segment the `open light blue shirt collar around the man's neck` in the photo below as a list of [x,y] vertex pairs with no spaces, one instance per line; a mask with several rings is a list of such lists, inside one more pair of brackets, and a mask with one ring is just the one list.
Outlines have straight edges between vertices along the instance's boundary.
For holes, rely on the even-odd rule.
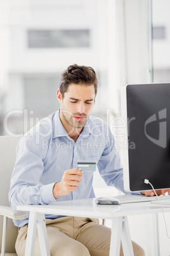
[[[60,110],[56,111],[53,117],[53,124],[53,139],[62,136],[69,136],[67,131],[65,131],[65,128],[63,127],[62,122],[60,120]],[[79,136],[81,136],[82,138],[86,138],[89,136],[89,134],[91,134],[91,127],[88,119]]]

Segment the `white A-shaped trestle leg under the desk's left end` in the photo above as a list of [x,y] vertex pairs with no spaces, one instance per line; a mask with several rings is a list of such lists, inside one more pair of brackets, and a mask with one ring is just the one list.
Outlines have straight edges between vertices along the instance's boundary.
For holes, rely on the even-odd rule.
[[48,246],[48,236],[46,232],[46,220],[44,214],[30,211],[29,227],[27,234],[27,243],[25,247],[25,256],[34,255],[34,248],[36,242],[36,234],[38,231],[39,245],[42,256],[50,256]]

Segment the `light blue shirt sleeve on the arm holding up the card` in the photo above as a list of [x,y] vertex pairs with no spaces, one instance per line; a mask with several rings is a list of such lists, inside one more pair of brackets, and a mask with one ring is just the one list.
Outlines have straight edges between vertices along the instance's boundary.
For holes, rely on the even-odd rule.
[[23,136],[16,148],[16,163],[11,176],[9,192],[10,206],[16,209],[20,204],[49,204],[55,201],[53,186],[42,185],[43,159],[46,152],[41,140],[36,143],[34,136]]

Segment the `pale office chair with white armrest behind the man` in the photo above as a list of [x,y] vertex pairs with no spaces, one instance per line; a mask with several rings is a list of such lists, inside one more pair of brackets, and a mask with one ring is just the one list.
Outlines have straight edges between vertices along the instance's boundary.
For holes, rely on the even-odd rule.
[[[23,211],[13,211],[8,201],[10,179],[16,159],[16,145],[20,137],[0,136],[0,250],[1,256],[14,256],[18,228],[12,220],[27,217]],[[7,221],[8,220],[8,221]],[[5,251],[7,253],[5,253]]]

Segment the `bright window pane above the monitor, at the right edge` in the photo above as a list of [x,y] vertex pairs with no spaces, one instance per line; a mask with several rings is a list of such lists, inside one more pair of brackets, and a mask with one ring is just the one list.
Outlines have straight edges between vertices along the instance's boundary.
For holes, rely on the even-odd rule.
[[170,81],[170,1],[152,1],[152,54],[154,83]]

